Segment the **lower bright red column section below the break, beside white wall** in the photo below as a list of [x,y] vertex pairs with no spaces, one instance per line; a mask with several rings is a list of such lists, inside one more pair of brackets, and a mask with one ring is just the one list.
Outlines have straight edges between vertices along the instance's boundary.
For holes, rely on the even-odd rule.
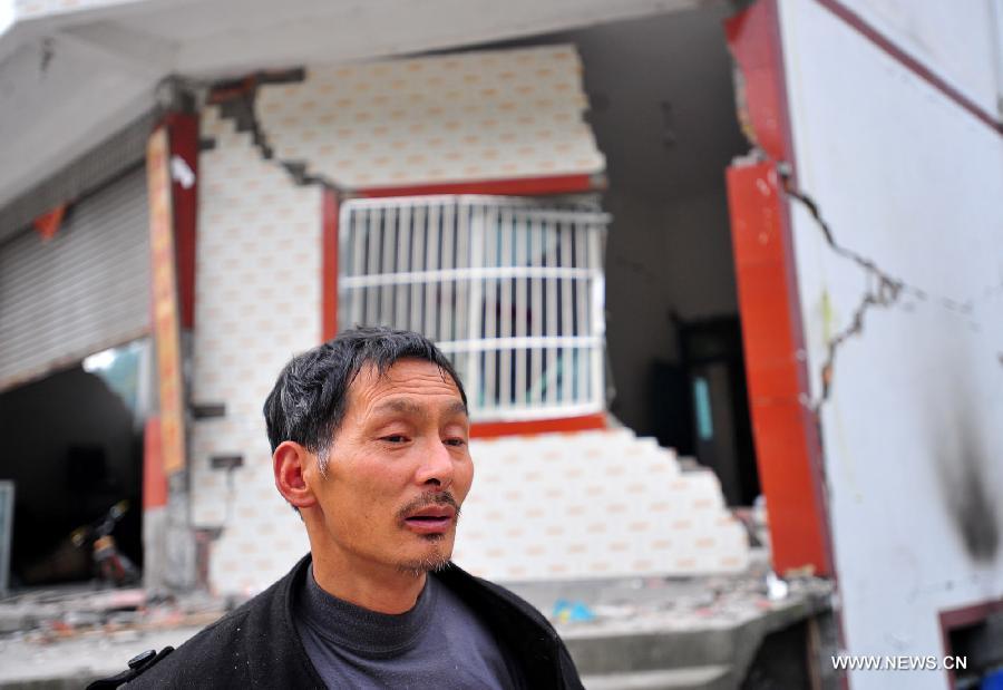
[[797,295],[788,290],[790,223],[773,164],[728,171],[739,312],[759,478],[773,567],[832,574],[821,449],[807,396]]

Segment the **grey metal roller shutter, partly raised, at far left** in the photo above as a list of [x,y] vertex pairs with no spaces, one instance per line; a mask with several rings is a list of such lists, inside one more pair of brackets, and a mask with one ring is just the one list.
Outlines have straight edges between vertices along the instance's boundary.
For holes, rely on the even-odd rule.
[[0,390],[148,328],[144,167],[75,204],[50,241],[23,232],[0,245]]

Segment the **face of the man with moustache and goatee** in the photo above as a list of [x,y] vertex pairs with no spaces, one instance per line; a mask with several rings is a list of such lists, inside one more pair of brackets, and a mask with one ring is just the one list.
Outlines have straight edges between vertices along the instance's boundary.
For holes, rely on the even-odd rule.
[[366,367],[314,483],[328,557],[362,570],[425,571],[452,553],[474,464],[459,389],[434,363]]

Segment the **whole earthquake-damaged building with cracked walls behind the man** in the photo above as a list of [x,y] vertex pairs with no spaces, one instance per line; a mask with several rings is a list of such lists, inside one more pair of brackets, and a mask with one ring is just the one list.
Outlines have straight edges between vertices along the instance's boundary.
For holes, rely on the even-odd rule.
[[308,550],[264,397],[386,324],[467,387],[471,572],[740,573],[765,503],[841,651],[1003,663],[999,8],[440,4],[13,3],[12,583],[125,505],[149,591],[261,591]]

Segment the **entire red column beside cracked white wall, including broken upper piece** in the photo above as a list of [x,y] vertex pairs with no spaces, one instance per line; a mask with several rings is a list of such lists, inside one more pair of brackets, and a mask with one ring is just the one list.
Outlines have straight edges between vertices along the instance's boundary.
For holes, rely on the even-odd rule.
[[818,418],[805,405],[810,378],[789,202],[777,173],[782,162],[796,175],[777,0],[753,2],[724,29],[742,76],[743,129],[769,159],[728,169],[728,205],[773,567],[832,575]]

